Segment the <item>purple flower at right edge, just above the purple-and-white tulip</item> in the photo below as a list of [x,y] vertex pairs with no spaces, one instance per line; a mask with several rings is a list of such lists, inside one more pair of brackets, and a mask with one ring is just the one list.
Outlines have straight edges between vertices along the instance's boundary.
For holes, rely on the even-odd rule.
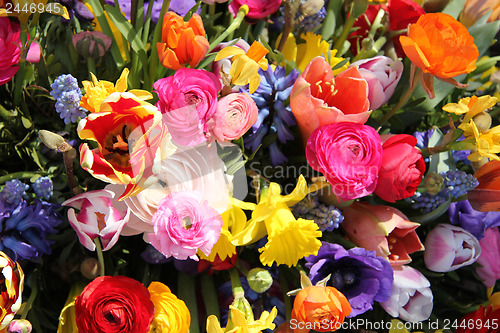
[[479,212],[468,200],[452,202],[448,214],[452,224],[462,227],[477,239],[484,237],[486,229],[500,226],[500,212]]

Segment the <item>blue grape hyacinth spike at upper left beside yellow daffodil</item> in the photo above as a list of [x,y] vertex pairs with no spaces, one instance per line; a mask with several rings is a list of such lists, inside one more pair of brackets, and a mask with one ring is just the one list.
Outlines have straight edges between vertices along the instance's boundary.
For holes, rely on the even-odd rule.
[[50,95],[56,100],[56,111],[65,124],[76,123],[78,117],[85,117],[80,107],[82,92],[78,81],[71,74],[60,75],[50,87]]

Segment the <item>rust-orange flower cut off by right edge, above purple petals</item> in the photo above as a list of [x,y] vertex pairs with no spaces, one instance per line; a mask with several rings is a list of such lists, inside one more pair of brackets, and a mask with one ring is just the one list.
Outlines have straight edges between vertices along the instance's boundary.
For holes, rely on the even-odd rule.
[[500,161],[490,161],[476,171],[479,185],[467,196],[475,210],[500,211]]

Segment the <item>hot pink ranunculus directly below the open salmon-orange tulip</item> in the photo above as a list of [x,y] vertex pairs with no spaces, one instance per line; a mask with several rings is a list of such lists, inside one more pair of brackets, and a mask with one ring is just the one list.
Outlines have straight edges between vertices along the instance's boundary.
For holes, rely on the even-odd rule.
[[370,126],[340,122],[318,127],[306,146],[309,165],[322,172],[342,200],[375,190],[382,162],[380,135]]

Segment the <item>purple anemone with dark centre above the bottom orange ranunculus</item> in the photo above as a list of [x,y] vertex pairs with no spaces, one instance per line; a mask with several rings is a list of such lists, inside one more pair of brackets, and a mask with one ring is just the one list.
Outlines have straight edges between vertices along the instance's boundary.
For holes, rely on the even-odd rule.
[[318,255],[306,257],[313,284],[331,274],[328,285],[337,288],[351,304],[350,318],[372,309],[374,301],[391,296],[393,270],[389,261],[364,248],[344,249],[323,242]]

